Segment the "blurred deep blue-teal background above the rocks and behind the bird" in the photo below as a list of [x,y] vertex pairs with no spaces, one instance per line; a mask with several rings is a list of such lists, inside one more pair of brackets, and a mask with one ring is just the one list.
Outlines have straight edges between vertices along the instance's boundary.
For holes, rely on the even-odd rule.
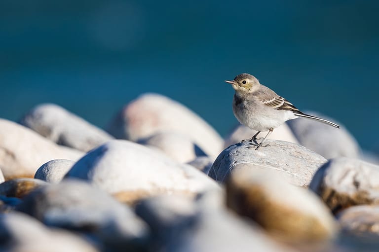
[[249,72],[379,151],[379,1],[0,0],[0,117],[56,103],[106,127],[145,92],[237,124]]

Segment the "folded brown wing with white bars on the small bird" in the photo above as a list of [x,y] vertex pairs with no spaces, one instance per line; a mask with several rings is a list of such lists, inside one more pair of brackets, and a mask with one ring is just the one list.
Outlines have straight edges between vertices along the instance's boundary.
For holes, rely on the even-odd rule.
[[259,93],[257,93],[259,100],[266,106],[278,109],[278,110],[290,110],[293,112],[300,112],[292,103],[277,95],[271,89],[262,85]]

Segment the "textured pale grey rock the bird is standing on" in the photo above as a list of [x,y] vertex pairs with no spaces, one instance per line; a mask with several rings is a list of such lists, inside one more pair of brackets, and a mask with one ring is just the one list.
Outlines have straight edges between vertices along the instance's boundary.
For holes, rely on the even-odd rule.
[[318,167],[326,162],[299,144],[273,140],[266,140],[265,144],[258,150],[248,142],[227,147],[213,163],[209,176],[224,181],[234,169],[249,167],[280,174],[291,184],[307,187]]

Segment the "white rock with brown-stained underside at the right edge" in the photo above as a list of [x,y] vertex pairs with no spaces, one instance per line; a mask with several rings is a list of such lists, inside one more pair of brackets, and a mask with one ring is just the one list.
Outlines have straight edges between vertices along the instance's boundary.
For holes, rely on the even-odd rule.
[[309,188],[334,213],[349,206],[379,204],[379,166],[359,159],[334,158],[320,167]]

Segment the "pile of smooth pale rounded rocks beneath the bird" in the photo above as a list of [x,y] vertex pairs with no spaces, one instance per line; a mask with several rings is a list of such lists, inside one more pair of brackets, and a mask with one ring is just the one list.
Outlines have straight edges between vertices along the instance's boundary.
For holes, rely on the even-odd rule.
[[343,124],[254,134],[154,93],[104,129],[56,104],[0,119],[0,251],[376,251],[379,162]]

